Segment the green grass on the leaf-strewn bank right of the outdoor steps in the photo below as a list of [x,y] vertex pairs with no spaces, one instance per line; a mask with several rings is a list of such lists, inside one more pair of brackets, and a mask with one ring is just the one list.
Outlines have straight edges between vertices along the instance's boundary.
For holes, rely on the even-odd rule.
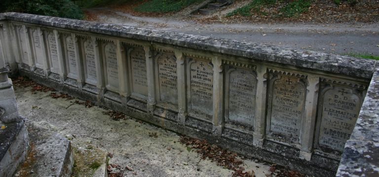
[[[283,0],[252,0],[249,4],[235,9],[232,12],[227,13],[227,17],[240,15],[240,16],[251,16],[252,12],[260,15],[268,15],[266,12],[262,11],[263,7],[272,7],[277,2],[284,3]],[[274,17],[294,17],[299,16],[301,13],[308,11],[310,6],[309,0],[295,0],[293,2],[287,3],[284,7],[279,9],[280,14],[272,14]]]

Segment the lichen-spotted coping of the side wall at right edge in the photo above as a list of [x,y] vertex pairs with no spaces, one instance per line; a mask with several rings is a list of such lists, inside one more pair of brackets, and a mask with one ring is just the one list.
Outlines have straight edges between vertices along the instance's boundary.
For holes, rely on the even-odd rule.
[[337,177],[379,175],[379,65],[355,124],[344,147]]

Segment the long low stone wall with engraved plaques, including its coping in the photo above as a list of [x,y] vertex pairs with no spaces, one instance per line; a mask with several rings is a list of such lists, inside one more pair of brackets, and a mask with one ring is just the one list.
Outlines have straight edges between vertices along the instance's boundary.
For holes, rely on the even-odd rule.
[[21,13],[0,29],[9,65],[40,83],[320,177],[336,174],[376,64]]

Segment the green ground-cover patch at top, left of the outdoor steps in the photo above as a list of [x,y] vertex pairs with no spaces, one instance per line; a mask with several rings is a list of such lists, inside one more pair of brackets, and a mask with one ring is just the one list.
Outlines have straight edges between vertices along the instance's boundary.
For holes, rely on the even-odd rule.
[[175,12],[203,0],[149,0],[136,8],[139,12]]

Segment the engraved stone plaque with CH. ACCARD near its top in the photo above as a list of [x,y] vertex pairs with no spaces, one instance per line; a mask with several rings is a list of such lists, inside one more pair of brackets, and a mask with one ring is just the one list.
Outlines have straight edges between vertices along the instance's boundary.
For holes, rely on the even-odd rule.
[[173,54],[158,57],[159,97],[161,102],[178,104],[176,59]]

